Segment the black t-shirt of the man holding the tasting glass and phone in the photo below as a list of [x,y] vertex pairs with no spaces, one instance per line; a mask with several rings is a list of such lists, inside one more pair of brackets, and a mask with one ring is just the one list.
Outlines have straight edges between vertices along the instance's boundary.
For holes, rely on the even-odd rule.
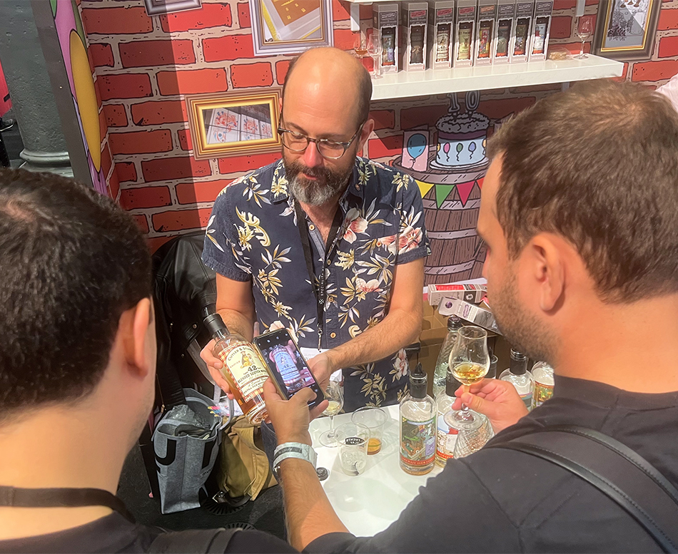
[[[616,438],[678,486],[678,392],[629,393],[556,377],[555,396],[492,438],[574,424]],[[378,483],[375,495],[378,495]],[[332,533],[305,548],[328,552],[661,552],[603,493],[548,461],[503,448],[450,460],[395,523],[370,538]]]

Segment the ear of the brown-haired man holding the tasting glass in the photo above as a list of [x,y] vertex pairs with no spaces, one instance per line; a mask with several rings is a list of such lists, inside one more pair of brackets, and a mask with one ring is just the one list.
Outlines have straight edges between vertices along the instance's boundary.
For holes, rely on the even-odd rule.
[[527,244],[528,263],[537,283],[537,300],[544,312],[560,306],[565,294],[565,260],[557,243],[546,234],[536,235]]

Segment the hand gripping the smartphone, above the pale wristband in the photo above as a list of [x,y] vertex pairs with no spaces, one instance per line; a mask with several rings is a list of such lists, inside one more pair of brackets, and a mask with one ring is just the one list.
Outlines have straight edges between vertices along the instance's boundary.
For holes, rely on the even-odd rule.
[[296,392],[289,400],[283,400],[275,389],[273,381],[266,379],[263,384],[263,399],[270,422],[278,436],[278,444],[287,442],[304,443],[310,446],[308,424],[325,411],[328,401],[323,400],[313,410],[308,409],[308,402],[315,398],[315,393],[304,388]]

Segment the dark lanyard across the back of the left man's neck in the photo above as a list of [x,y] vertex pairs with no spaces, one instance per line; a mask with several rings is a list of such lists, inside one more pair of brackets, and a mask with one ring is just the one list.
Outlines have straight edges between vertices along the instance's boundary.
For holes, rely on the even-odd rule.
[[106,506],[134,523],[123,501],[101,488],[16,488],[0,486],[0,506],[16,508],[79,508]]

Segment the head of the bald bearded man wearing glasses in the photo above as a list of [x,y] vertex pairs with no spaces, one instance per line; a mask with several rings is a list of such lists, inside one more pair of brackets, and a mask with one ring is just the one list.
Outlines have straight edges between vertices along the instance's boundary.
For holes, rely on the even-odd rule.
[[[355,156],[374,127],[368,118],[371,96],[369,73],[338,48],[313,48],[293,61],[285,78],[280,117],[280,127],[297,136],[283,133],[282,137],[285,175],[293,197],[323,205],[343,191]],[[332,152],[311,142],[305,150],[295,151],[303,148],[300,135],[350,144],[345,150],[335,145],[338,151]],[[293,140],[300,140],[302,146],[288,148]]]

